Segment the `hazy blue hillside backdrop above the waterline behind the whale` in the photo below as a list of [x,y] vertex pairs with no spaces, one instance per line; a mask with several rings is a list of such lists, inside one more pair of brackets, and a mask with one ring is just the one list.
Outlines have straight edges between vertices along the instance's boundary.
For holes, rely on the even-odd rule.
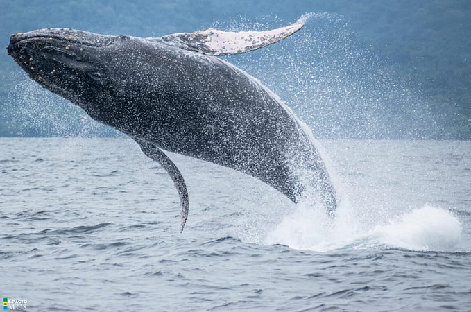
[[[217,27],[305,29],[230,62],[262,80],[323,138],[471,139],[471,1],[0,0],[10,33],[67,27],[158,37]],[[0,136],[117,135],[37,87],[0,53]]]

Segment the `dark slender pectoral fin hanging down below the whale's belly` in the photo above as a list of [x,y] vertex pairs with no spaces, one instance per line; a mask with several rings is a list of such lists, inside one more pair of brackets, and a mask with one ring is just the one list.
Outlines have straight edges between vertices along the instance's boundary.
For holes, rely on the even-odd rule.
[[189,202],[187,185],[185,184],[185,180],[183,180],[182,173],[180,173],[180,170],[178,170],[177,166],[173,164],[171,159],[165,155],[165,153],[160,148],[144,139],[135,139],[135,141],[137,141],[137,144],[141,146],[141,150],[144,152],[144,154],[164,167],[165,171],[169,173],[171,179],[173,180],[173,184],[175,184],[178,195],[180,196],[180,206],[182,207],[180,233],[183,232],[183,227],[185,227],[185,223],[187,223]]

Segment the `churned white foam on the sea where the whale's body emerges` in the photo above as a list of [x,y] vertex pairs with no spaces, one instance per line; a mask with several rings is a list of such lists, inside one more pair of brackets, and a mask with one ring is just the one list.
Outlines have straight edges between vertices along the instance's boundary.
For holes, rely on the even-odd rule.
[[286,216],[266,236],[266,244],[283,244],[299,250],[326,252],[339,248],[404,248],[407,250],[456,251],[462,226],[446,209],[425,205],[386,225],[361,224],[344,200],[336,218],[307,203]]

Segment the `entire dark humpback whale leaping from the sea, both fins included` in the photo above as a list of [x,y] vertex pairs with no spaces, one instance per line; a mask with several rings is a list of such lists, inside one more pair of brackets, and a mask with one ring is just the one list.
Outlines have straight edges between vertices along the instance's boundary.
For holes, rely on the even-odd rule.
[[259,80],[218,56],[278,42],[302,21],[271,31],[215,29],[158,38],[46,28],[11,35],[8,54],[28,76],[139,144],[189,198],[164,150],[252,175],[293,202],[314,189],[329,214],[338,199],[309,128]]

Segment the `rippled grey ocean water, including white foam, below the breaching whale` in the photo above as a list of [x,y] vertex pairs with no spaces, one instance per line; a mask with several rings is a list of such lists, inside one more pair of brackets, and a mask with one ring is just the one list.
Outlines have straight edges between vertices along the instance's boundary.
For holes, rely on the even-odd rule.
[[0,295],[28,311],[471,311],[471,142],[323,141],[331,220],[129,139],[0,139]]

